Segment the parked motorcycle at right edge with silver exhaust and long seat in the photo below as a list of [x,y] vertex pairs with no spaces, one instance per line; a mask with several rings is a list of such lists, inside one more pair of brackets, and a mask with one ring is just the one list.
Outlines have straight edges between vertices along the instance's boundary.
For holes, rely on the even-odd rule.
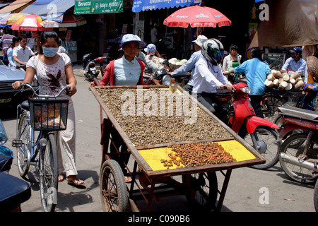
[[301,183],[312,183],[318,177],[318,113],[312,105],[315,97],[317,92],[309,91],[300,108],[278,107],[282,121],[279,161],[285,174]]

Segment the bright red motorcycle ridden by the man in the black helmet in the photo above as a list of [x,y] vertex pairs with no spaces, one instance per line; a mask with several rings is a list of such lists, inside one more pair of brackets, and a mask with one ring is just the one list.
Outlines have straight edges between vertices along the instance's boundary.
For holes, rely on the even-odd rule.
[[[247,143],[265,157],[266,162],[254,165],[256,169],[268,169],[276,165],[279,157],[279,147],[276,143],[279,127],[273,122],[257,117],[249,102],[249,87],[245,83],[233,85],[232,93],[217,93],[218,99],[223,104],[225,114],[221,121],[235,131]],[[218,107],[218,106],[213,106]]]

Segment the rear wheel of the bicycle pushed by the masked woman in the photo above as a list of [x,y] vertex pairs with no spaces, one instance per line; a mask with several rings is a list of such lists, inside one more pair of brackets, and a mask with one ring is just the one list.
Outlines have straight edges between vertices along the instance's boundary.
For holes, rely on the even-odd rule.
[[32,128],[28,123],[30,118],[27,112],[20,115],[18,121],[17,139],[22,141],[22,146],[17,148],[18,172],[25,178],[31,163],[31,133]]

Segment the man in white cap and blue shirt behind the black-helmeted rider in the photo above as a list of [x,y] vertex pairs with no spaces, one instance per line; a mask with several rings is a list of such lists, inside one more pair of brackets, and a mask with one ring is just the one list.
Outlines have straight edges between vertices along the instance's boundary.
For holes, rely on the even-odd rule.
[[[176,69],[171,73],[172,76],[177,76],[177,75],[182,75],[188,71],[192,71],[192,75],[194,75],[194,69],[196,68],[196,62],[201,58],[201,47],[204,42],[208,40],[208,38],[204,35],[199,35],[196,40],[194,40],[194,49],[196,52],[194,52],[190,59],[187,61],[186,64],[182,65],[179,67],[179,69]],[[183,87],[184,90],[189,92],[190,94],[192,93],[193,89],[193,78],[190,79],[190,81],[187,83],[187,85],[184,85]]]

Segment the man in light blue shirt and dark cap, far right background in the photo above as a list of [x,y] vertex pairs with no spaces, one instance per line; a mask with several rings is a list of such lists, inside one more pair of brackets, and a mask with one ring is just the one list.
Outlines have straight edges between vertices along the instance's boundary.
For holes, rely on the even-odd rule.
[[284,71],[293,70],[295,72],[304,73],[306,61],[302,59],[302,48],[295,47],[290,53],[292,56],[285,61],[281,69]]

